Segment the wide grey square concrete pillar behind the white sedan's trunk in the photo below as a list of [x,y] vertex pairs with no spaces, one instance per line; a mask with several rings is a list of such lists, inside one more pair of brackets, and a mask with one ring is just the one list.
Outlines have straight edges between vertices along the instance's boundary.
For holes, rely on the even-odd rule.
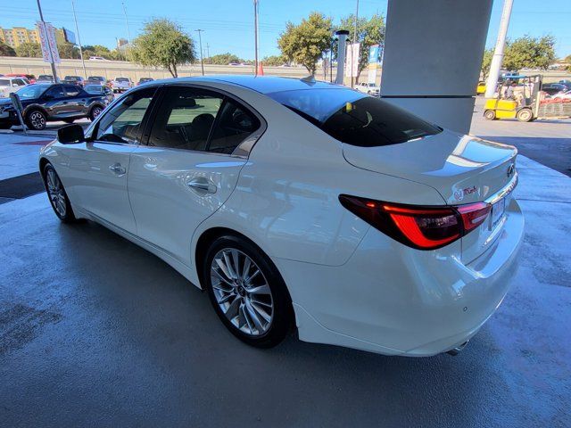
[[381,96],[468,133],[492,0],[389,0]]

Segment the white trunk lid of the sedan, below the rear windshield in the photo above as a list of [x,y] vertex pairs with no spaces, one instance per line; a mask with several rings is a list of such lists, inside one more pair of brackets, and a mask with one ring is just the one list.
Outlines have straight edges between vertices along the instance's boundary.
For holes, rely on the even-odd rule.
[[379,147],[343,144],[353,166],[401,177],[438,191],[449,204],[480,202],[516,174],[517,149],[449,130],[406,143]]

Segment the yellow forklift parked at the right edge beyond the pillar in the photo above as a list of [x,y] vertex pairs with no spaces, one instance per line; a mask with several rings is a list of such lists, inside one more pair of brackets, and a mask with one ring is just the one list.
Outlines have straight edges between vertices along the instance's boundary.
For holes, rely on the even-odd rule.
[[[512,86],[515,83],[516,86]],[[509,91],[509,86],[512,86]],[[542,75],[509,76],[501,81],[494,98],[484,104],[484,118],[517,119],[531,122],[535,119],[571,117],[571,103],[541,103]]]

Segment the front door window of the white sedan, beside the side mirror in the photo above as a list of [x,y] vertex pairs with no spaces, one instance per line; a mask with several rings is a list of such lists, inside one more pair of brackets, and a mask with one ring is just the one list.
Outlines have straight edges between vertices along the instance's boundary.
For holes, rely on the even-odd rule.
[[140,143],[145,112],[155,93],[148,87],[124,97],[107,111],[97,124],[95,139],[111,143]]

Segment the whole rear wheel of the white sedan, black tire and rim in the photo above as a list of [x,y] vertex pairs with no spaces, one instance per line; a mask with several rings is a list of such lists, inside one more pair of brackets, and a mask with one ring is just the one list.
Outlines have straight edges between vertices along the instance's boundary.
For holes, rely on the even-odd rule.
[[203,283],[220,320],[242,342],[271,348],[284,340],[294,319],[291,298],[254,243],[235,235],[216,239],[204,258]]

